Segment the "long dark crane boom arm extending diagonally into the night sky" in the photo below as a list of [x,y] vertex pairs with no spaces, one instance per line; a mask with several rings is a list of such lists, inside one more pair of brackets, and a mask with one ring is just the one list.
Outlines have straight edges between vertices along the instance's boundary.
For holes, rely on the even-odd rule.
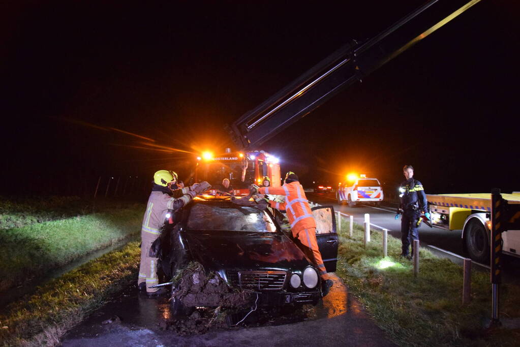
[[242,149],[260,145],[480,0],[431,0],[365,43],[342,46],[228,126]]

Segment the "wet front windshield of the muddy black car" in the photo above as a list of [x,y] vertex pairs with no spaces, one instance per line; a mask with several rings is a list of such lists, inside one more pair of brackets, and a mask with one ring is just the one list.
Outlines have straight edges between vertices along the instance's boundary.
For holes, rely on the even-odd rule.
[[276,232],[267,212],[254,207],[196,204],[191,208],[188,230]]

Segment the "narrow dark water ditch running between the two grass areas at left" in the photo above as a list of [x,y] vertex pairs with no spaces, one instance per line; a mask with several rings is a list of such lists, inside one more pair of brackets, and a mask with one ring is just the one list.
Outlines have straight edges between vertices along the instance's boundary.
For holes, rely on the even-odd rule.
[[79,266],[89,262],[90,260],[96,259],[101,257],[102,255],[105,255],[108,252],[111,252],[116,249],[123,248],[127,243],[134,241],[136,236],[122,239],[121,241],[115,242],[112,245],[99,249],[97,251],[94,251],[93,253],[90,253],[89,255],[79,258],[77,260],[74,260],[70,262],[69,264],[63,266],[62,268],[50,270],[44,277],[35,279],[33,281],[25,282],[22,286],[11,288],[8,291],[2,293],[2,296],[0,297],[0,309],[5,308],[5,306],[24,295],[30,294],[34,292],[36,289],[36,286],[41,285],[47,281],[50,281],[51,279],[57,278],[62,276],[63,274],[66,274],[69,271],[72,271]]

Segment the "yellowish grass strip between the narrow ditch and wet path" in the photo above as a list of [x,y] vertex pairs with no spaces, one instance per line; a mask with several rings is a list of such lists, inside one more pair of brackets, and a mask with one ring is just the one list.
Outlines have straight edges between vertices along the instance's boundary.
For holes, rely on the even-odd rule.
[[68,329],[136,278],[139,256],[138,242],[129,243],[9,304],[0,315],[0,344],[59,344]]

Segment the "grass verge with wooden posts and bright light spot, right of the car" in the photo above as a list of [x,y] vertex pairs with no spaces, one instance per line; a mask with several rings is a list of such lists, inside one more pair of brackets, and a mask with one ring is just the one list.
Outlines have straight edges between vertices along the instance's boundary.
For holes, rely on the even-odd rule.
[[[382,233],[371,232],[363,246],[364,230],[355,225],[348,236],[348,221],[340,231],[337,275],[362,302],[374,321],[399,345],[517,345],[518,330],[486,330],[491,315],[489,274],[472,272],[472,301],[462,305],[461,266],[420,250],[420,272],[400,259],[401,242],[388,236],[388,257],[383,258]],[[520,317],[520,289],[501,285],[500,314]]]

